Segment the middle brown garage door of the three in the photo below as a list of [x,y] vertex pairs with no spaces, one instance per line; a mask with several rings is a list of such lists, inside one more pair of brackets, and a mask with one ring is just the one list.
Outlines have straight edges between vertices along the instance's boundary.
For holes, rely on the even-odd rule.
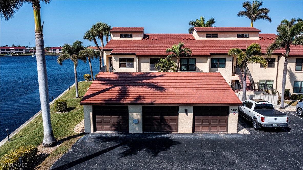
[[144,132],[178,132],[178,106],[143,106]]

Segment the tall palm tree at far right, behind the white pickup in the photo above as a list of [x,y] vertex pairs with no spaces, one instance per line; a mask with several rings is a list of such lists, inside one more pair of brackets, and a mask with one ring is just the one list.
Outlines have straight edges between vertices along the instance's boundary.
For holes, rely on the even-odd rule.
[[[296,23],[297,21],[297,23]],[[266,55],[271,57],[271,55],[278,49],[285,49],[285,62],[283,68],[282,77],[282,94],[281,94],[281,106],[284,108],[284,92],[285,92],[285,82],[287,75],[287,64],[288,57],[290,53],[291,45],[303,45],[303,36],[299,36],[303,33],[303,21],[301,18],[292,18],[290,21],[284,19],[277,28],[278,35],[275,38],[275,42],[269,45],[266,49]]]

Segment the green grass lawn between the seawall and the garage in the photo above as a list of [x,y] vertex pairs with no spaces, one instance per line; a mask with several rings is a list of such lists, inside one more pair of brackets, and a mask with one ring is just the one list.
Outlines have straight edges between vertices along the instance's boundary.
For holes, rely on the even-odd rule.
[[[83,96],[92,82],[79,82],[78,92],[79,96]],[[51,120],[52,128],[57,141],[63,143],[56,148],[45,160],[38,165],[41,169],[49,169],[55,160],[61,157],[71,146],[80,138],[83,133],[74,132],[75,126],[84,119],[83,106],[80,105],[82,98],[74,99],[76,96],[75,86],[70,91],[66,92],[60,99],[67,100],[67,107],[69,112],[56,113],[54,105],[51,105]],[[38,146],[43,142],[43,123],[42,115],[38,115],[32,122],[22,128],[12,138],[11,142],[6,142],[0,147],[0,158],[8,151],[16,149],[21,145],[35,145]]]

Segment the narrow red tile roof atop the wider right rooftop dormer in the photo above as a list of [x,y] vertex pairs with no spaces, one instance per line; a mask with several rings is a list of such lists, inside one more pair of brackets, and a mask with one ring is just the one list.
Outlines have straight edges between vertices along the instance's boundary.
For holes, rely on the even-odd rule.
[[254,27],[194,27],[197,32],[261,32]]

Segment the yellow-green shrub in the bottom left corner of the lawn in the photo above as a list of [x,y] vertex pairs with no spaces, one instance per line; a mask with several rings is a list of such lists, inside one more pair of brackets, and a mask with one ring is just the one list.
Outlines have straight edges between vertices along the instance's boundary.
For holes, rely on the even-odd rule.
[[21,160],[23,166],[29,167],[35,161],[37,152],[38,149],[34,145],[20,146],[15,150],[11,150],[3,156],[1,161],[1,165],[8,165],[8,166],[0,166],[0,169],[1,170],[19,169],[18,164],[20,165],[19,162],[20,156],[22,156]]

